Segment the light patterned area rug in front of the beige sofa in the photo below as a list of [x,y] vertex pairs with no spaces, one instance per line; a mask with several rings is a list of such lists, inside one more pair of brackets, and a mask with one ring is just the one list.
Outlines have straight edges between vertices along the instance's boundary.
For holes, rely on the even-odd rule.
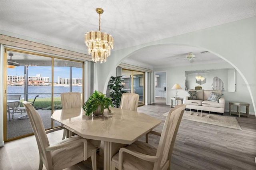
[[[196,112],[191,113],[192,115],[190,115],[190,111],[184,111],[182,119],[242,130],[239,123],[236,120],[236,117],[221,116],[210,113],[210,118],[208,118],[208,113],[203,113],[203,117],[201,117],[201,112],[198,112],[197,116]],[[164,113],[163,116],[167,116],[167,114],[168,112]]]

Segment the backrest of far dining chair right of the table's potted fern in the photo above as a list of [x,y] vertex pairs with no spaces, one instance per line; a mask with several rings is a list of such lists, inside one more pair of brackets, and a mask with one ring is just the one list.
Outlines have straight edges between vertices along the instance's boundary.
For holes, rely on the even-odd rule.
[[123,93],[120,108],[130,111],[137,111],[139,97],[140,96],[136,93]]

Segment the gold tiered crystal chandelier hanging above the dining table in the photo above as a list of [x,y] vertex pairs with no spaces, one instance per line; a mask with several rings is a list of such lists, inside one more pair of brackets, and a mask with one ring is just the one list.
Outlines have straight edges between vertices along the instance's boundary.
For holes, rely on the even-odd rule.
[[114,48],[114,38],[106,32],[100,32],[100,14],[104,12],[101,8],[96,8],[99,14],[99,31],[87,32],[84,35],[84,43],[88,47],[89,55],[92,55],[92,61],[97,63],[106,62],[106,58],[110,55],[111,49]]

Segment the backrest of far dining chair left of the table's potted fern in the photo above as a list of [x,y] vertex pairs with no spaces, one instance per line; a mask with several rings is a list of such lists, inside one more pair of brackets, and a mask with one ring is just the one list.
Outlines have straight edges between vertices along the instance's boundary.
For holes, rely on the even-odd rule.
[[82,97],[79,92],[66,92],[60,94],[62,109],[82,107]]

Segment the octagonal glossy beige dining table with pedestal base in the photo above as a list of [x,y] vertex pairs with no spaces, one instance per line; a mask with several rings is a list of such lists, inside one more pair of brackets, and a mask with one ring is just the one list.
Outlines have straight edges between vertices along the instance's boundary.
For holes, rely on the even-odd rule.
[[82,108],[56,110],[51,118],[63,127],[86,139],[104,141],[104,170],[111,169],[111,158],[122,146],[160,125],[156,119],[137,111],[110,107],[101,117],[86,116]]

